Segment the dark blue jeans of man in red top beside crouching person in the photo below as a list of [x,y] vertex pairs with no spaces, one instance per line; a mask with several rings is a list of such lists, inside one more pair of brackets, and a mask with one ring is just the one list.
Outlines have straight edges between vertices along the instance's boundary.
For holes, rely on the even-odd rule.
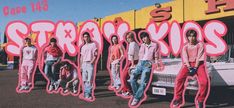
[[45,63],[45,74],[47,76],[47,78],[49,78],[50,80],[50,85],[53,85],[56,81],[56,73],[55,73],[55,66],[54,66],[54,63],[56,61],[55,60],[51,60],[51,61],[46,61]]

